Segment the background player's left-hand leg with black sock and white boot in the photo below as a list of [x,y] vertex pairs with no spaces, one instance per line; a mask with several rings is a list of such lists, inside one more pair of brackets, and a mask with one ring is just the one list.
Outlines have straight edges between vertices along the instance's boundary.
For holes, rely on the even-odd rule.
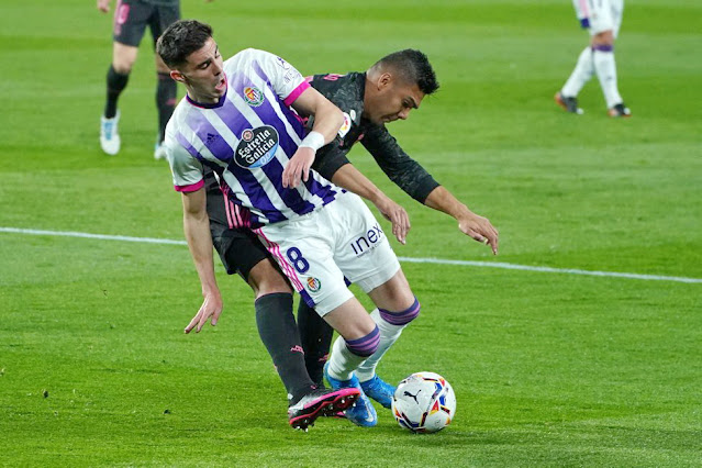
[[119,42],[113,43],[112,64],[108,69],[107,77],[107,100],[100,122],[100,145],[102,151],[109,155],[115,155],[120,152],[118,100],[124,88],[126,88],[137,53],[137,47]]

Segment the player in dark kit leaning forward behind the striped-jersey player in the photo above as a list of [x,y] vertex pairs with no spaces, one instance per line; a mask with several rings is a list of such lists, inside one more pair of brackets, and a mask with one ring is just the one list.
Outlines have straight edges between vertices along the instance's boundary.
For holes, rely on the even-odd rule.
[[[382,197],[386,196],[368,179],[359,177],[359,172],[346,158],[354,143],[360,141],[394,183],[421,203],[455,218],[461,232],[476,241],[488,243],[497,254],[498,233],[490,222],[472,213],[448,190],[438,185],[419,163],[402,151],[385,126],[387,122],[406,119],[412,109],[419,108],[425,94],[431,94],[438,88],[435,82],[434,87],[423,81],[427,76],[433,78],[433,75],[424,54],[406,49],[382,58],[367,73],[315,75],[309,78],[311,85],[342,109],[346,118],[346,123],[339,132],[341,137],[317,151],[312,167],[334,183],[370,200],[383,212]],[[412,78],[408,79],[408,76]],[[417,79],[417,76],[423,78]],[[289,324],[289,327],[293,327],[294,320],[289,316],[291,310],[286,310],[282,303],[264,304],[271,292],[279,294],[292,292],[283,275],[274,267],[276,261],[268,253],[261,250],[263,246],[255,236],[247,235],[246,214],[236,212],[235,204],[225,200],[212,172],[205,175],[205,183],[209,187],[208,214],[214,247],[227,272],[239,272],[254,289],[257,298],[255,305],[259,330],[261,326],[269,326],[271,322],[285,322]],[[383,214],[387,215],[386,212]],[[233,242],[232,238],[236,241]],[[268,290],[268,285],[275,285],[275,288]],[[304,301],[300,301],[298,330],[305,354],[308,374],[313,381],[322,385],[322,369],[330,349],[332,327]],[[286,334],[297,332],[280,331]],[[265,344],[271,356],[285,354],[285,349],[278,349],[277,343],[265,342]],[[374,355],[368,359],[368,365],[361,365],[367,372],[364,377],[371,377],[367,382],[379,380],[375,376],[375,366],[381,356],[382,354]],[[275,357],[274,361],[276,361]],[[285,363],[276,361],[276,367],[279,372],[283,371]],[[381,401],[382,398],[374,397],[374,394],[382,397],[379,393],[383,393],[382,390],[387,393],[388,388],[379,392],[375,392],[378,389],[368,391],[367,387],[364,387],[364,378],[360,375],[359,379],[364,391],[369,397],[383,405],[389,404],[387,399]]]

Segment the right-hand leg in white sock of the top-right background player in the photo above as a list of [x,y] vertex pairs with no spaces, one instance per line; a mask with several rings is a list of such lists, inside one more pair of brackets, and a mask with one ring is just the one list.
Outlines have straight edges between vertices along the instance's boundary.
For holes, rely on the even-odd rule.
[[614,59],[614,38],[621,24],[623,3],[620,0],[608,0],[601,3],[597,18],[590,25],[594,71],[604,94],[608,113],[611,116],[629,116],[631,112],[624,105],[620,94]]

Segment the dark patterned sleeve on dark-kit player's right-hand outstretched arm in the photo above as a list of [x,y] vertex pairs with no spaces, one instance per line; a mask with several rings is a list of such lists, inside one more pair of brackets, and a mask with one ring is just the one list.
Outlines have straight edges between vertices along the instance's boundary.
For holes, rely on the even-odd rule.
[[385,126],[371,125],[360,143],[390,180],[420,203],[438,187],[432,175],[402,151]]

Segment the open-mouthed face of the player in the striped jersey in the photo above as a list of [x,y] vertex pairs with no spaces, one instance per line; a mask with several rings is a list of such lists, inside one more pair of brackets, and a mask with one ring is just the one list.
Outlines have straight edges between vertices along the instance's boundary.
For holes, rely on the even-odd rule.
[[[226,93],[222,55],[212,37],[199,51],[188,56],[188,62],[179,71],[188,88],[190,99],[203,103],[216,103]],[[171,74],[172,75],[172,74]]]

